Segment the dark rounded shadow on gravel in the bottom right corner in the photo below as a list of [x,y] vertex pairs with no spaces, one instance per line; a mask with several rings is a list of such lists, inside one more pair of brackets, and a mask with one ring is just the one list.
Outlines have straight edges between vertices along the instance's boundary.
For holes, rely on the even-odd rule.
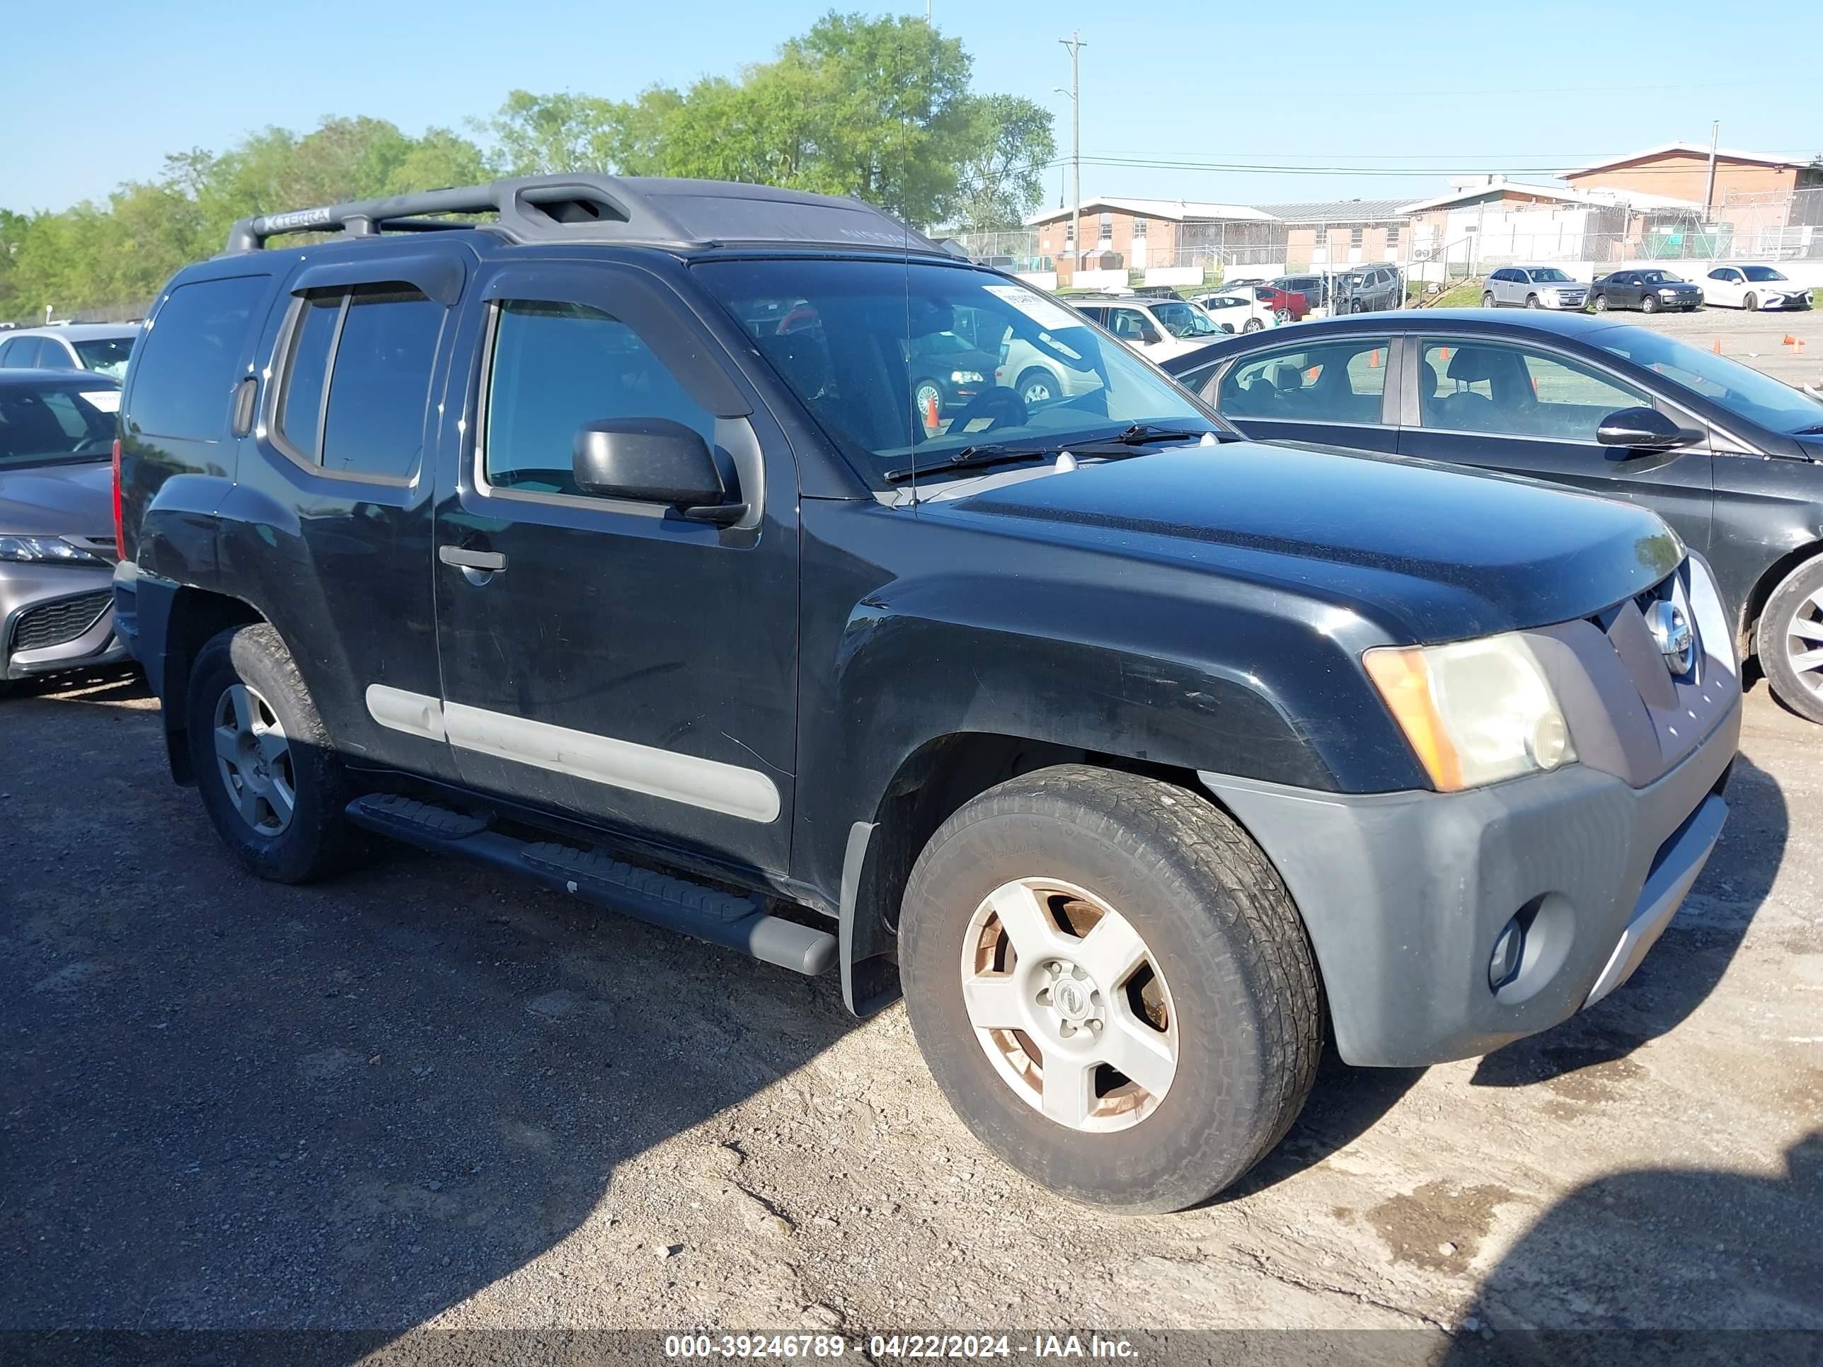
[[1488,1274],[1464,1314],[1495,1332],[1460,1334],[1444,1362],[1816,1363],[1819,1208],[1823,1130],[1794,1143],[1770,1177],[1712,1168],[1599,1177],[1553,1205]]

